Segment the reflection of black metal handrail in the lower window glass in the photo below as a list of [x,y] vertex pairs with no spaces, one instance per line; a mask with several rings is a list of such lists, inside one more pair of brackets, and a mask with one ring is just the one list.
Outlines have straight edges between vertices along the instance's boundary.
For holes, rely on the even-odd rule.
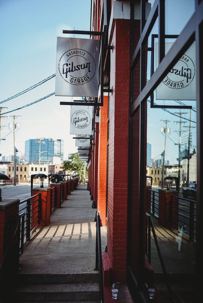
[[146,246],[145,246],[145,255],[148,257],[148,262],[151,265],[151,231],[153,234],[154,242],[157,248],[157,253],[159,256],[160,264],[163,270],[163,276],[167,285],[167,289],[170,295],[171,302],[176,303],[175,299],[173,298],[173,291],[172,291],[172,286],[169,282],[168,276],[167,276],[167,270],[165,263],[163,261],[163,256],[157,241],[157,235],[154,229],[153,221],[152,218],[149,214],[146,213]]

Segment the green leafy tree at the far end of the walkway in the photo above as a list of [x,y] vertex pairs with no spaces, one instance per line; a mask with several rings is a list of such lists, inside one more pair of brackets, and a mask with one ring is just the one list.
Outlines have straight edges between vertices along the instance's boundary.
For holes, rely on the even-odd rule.
[[73,153],[68,155],[68,160],[64,161],[63,169],[73,172],[73,174],[78,175],[78,178],[83,177],[83,167],[84,164],[81,161],[79,153]]

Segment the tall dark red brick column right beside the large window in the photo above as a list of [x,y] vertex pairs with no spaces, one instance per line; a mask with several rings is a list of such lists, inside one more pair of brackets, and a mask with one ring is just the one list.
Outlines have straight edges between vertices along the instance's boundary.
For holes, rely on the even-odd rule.
[[111,45],[108,258],[112,281],[126,280],[130,21],[116,19]]

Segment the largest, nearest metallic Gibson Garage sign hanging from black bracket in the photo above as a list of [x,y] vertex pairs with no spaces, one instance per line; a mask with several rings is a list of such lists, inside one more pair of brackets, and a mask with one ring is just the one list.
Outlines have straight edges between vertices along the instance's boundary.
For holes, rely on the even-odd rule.
[[99,40],[57,37],[55,96],[98,97]]

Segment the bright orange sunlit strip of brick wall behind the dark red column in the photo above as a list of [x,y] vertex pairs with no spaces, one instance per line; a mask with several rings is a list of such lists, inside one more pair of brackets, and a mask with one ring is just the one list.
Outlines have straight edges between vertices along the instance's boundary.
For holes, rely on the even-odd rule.
[[108,96],[104,96],[103,106],[99,112],[99,148],[98,148],[98,200],[101,225],[105,226],[106,220],[106,168],[107,168],[107,105]]

